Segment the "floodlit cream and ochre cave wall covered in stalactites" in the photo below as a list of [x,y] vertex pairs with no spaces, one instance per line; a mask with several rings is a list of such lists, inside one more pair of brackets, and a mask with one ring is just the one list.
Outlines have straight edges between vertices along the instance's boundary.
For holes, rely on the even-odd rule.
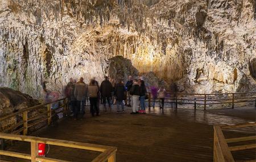
[[255,3],[2,0],[0,86],[40,98],[43,81],[62,92],[69,77],[103,80],[121,55],[188,92],[256,90]]

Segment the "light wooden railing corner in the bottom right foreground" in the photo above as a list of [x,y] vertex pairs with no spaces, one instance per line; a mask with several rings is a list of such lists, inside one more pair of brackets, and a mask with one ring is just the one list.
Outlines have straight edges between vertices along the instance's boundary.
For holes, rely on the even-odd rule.
[[256,143],[247,144],[243,146],[229,147],[228,143],[243,142],[255,140],[256,136],[245,136],[240,138],[225,139],[221,129],[226,128],[242,128],[242,127],[255,127],[255,123],[238,124],[235,126],[213,126],[214,127],[214,142],[213,142],[213,161],[214,162],[234,162],[231,151],[238,151],[243,149],[256,148]]

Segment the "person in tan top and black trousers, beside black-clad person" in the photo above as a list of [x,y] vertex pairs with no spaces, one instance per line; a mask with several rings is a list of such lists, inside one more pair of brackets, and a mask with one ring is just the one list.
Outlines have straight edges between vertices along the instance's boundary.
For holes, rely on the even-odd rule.
[[95,80],[91,80],[88,86],[89,100],[90,100],[90,113],[92,117],[94,117],[94,113],[96,111],[96,115],[98,116],[100,113],[100,109],[98,107],[98,86]]

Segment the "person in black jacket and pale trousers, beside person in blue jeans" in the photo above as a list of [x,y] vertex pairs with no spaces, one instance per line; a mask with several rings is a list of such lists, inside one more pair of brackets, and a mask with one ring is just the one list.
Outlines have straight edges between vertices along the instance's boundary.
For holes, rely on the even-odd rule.
[[133,80],[133,86],[130,89],[130,95],[131,98],[133,99],[133,112],[131,114],[137,114],[138,112],[138,106],[139,106],[139,95],[140,95],[140,88],[138,84],[138,80],[134,79]]

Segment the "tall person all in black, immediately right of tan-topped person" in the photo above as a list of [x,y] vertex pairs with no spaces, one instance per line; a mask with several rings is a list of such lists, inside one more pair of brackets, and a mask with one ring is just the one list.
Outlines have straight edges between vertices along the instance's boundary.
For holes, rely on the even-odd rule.
[[109,109],[111,109],[110,97],[111,97],[112,91],[113,91],[112,84],[110,83],[109,78],[105,77],[105,80],[101,82],[101,86],[100,86],[100,92],[103,97],[105,112],[106,112],[106,100],[108,100]]

